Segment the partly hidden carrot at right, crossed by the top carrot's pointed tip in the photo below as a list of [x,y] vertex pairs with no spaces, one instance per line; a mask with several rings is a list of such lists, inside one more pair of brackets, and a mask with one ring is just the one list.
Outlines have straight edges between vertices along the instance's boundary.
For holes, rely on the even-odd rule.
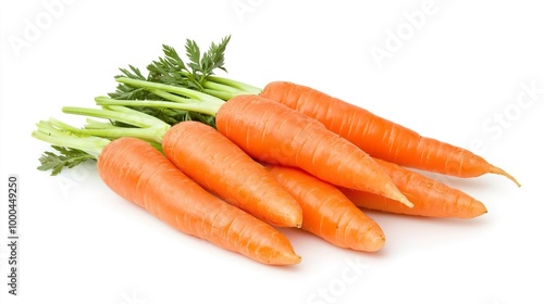
[[357,206],[390,213],[429,217],[473,218],[487,212],[485,205],[469,194],[399,165],[375,160],[391,176],[398,189],[410,199],[413,207],[369,192],[341,188]]

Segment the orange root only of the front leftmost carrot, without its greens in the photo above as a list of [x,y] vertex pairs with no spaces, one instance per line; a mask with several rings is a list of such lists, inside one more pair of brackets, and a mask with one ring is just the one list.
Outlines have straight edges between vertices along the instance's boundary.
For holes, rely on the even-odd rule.
[[116,139],[97,165],[112,191],[182,232],[263,264],[300,261],[280,231],[203,190],[145,141]]

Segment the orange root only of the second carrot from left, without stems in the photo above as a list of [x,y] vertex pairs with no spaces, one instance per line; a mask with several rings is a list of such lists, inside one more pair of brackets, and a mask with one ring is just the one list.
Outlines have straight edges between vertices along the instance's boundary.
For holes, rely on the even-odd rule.
[[300,227],[302,210],[275,178],[214,128],[182,122],[162,140],[166,157],[210,192],[277,227]]

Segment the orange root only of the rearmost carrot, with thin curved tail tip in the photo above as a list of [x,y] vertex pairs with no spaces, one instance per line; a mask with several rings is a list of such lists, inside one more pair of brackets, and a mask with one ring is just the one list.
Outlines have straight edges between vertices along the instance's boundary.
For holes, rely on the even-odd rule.
[[373,157],[457,177],[499,174],[519,186],[512,176],[466,149],[422,137],[409,128],[307,86],[273,81],[267,85],[261,96],[316,118]]

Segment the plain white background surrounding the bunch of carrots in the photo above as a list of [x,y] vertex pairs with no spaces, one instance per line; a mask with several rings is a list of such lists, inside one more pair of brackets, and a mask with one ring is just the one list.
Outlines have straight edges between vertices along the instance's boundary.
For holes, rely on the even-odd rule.
[[[498,2],[2,1],[0,303],[544,303],[544,7]],[[443,178],[489,214],[369,213],[387,237],[376,254],[284,229],[302,263],[269,267],[160,223],[92,164],[36,169],[49,147],[30,137],[39,119],[70,122],[62,105],[92,106],[118,67],[145,67],[161,43],[207,48],[226,35],[232,78],[319,88],[471,149],[522,187]],[[9,174],[21,182],[17,296],[7,291]]]

